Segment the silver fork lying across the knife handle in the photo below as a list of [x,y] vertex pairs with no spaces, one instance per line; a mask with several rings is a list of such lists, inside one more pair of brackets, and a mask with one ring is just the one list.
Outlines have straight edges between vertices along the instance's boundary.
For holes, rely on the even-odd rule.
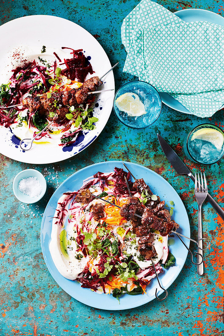
[[[203,173],[204,175],[204,173]],[[198,176],[198,180],[197,180]],[[204,200],[206,199],[208,195],[208,186],[206,182],[206,177],[204,175],[204,185],[203,185],[203,178],[201,173],[201,184],[200,184],[200,177],[199,173],[195,172],[195,188],[194,188],[194,195],[198,204],[198,232],[197,232],[197,242],[200,248],[202,248],[202,225],[201,225],[201,205],[203,204]],[[197,248],[198,253],[202,253],[203,251],[199,251],[199,248]],[[197,262],[199,263],[201,261],[201,256],[197,255]],[[204,267],[203,262],[200,265],[197,265],[197,274],[203,275]]]

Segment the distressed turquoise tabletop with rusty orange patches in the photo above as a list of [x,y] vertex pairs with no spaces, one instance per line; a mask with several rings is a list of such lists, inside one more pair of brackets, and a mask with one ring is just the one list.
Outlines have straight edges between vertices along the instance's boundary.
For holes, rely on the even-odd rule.
[[[159,0],[171,11],[202,8],[224,15],[215,0]],[[132,80],[122,74],[126,53],[121,44],[123,18],[138,4],[137,0],[7,0],[0,2],[1,24],[14,18],[48,14],[72,20],[88,30],[101,43],[114,71],[116,88]],[[40,22],[41,25],[41,22]],[[46,32],[47,33],[47,32]],[[57,34],[57,27],[55,27]],[[223,128],[223,111],[203,122]],[[154,300],[139,308],[106,311],[88,307],[66,294],[51,278],[40,247],[40,224],[45,206],[61,182],[87,165],[106,160],[125,160],[142,164],[161,174],[177,190],[187,209],[192,236],[197,234],[197,204],[191,180],[171,168],[158,145],[156,133],[169,140],[181,158],[186,132],[202,123],[200,118],[184,115],[163,105],[156,123],[144,130],[133,130],[111,117],[101,135],[87,150],[64,162],[33,166],[0,155],[0,335],[89,335],[89,336],[221,336],[224,335],[224,228],[209,204],[203,205],[204,236],[211,240],[205,255],[205,272],[198,277],[188,256],[185,266],[163,301]],[[186,161],[186,159],[184,158]],[[210,193],[224,203],[224,160],[200,167],[205,171]],[[44,199],[24,205],[12,192],[14,176],[26,168],[41,171],[47,181]],[[191,245],[191,249],[195,247]]]

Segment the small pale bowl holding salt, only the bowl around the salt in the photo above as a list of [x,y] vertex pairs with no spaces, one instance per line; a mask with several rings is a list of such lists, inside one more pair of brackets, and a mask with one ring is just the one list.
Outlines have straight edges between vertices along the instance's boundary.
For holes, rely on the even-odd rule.
[[[38,181],[40,182],[40,185],[42,187],[42,192],[39,196],[37,197],[30,197],[29,195],[25,195],[23,194],[20,190],[19,190],[19,183],[23,178],[27,178],[27,177],[36,177],[38,179]],[[13,181],[12,184],[12,189],[13,189],[13,193],[15,195],[15,197],[26,204],[31,204],[31,203],[36,203],[38,202],[45,194],[46,192],[46,188],[47,188],[47,183],[45,181],[44,176],[36,169],[25,169],[22,170],[20,173],[18,173]]]

